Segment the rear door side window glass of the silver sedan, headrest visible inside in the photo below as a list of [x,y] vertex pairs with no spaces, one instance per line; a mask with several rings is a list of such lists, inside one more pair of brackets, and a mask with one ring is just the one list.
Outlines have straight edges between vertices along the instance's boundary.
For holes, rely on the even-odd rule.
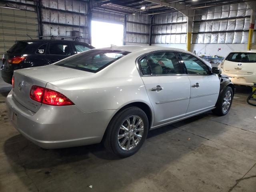
[[[173,52],[148,54],[147,59],[152,75],[181,74],[178,60]],[[143,70],[142,64],[140,66]],[[148,68],[146,68],[146,72],[148,72]]]

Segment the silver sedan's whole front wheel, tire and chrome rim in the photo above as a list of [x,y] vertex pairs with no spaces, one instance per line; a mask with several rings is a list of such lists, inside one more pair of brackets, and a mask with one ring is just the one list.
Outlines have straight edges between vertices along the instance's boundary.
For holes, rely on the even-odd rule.
[[218,101],[216,103],[216,108],[212,110],[216,115],[224,116],[226,115],[231,107],[233,101],[233,90],[231,87],[227,86],[222,91]]

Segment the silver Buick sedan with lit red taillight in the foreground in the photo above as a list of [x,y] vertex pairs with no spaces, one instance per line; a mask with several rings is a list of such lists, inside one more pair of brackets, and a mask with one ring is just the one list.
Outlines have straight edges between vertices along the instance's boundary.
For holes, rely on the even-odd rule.
[[42,148],[104,142],[127,157],[148,130],[227,114],[234,85],[220,73],[184,50],[112,46],[15,71],[6,104],[14,127]]

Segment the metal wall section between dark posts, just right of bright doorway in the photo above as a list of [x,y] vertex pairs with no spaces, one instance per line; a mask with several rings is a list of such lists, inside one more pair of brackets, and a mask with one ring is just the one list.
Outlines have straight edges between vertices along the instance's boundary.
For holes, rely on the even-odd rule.
[[126,44],[149,44],[150,16],[128,15],[126,21]]

